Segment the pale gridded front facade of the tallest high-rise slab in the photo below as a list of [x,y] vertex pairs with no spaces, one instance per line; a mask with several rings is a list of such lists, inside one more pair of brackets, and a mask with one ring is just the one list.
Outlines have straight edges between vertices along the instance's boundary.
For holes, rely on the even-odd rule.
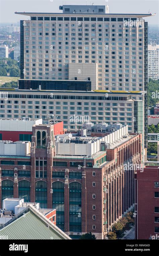
[[69,63],[96,63],[98,89],[144,90],[142,16],[28,15],[31,20],[24,21],[24,79],[67,80]]

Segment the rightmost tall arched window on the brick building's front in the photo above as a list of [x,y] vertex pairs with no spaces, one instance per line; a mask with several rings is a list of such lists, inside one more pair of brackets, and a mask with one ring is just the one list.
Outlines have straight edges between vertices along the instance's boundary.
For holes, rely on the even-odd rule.
[[79,182],[69,183],[69,231],[81,232],[81,188]]

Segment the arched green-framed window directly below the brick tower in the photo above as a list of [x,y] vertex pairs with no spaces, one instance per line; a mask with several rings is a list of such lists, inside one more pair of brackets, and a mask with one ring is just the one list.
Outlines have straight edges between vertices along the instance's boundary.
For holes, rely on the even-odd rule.
[[37,181],[35,184],[35,202],[40,203],[40,207],[47,208],[47,183]]

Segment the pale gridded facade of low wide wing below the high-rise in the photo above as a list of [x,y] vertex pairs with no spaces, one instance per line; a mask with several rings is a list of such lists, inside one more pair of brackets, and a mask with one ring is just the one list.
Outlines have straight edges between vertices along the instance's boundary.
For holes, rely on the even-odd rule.
[[[84,122],[108,125],[121,123],[128,125],[128,131],[134,132],[135,102],[144,104],[144,92],[79,92],[76,91],[8,91],[8,100],[1,100],[3,111],[0,118],[45,119],[54,115],[54,119],[63,121],[64,128],[78,130]],[[18,95],[17,95],[18,94]],[[17,98],[18,97],[18,98]],[[143,105],[140,109],[143,109]],[[10,106],[14,108],[7,113]],[[144,124],[143,118],[141,119]]]

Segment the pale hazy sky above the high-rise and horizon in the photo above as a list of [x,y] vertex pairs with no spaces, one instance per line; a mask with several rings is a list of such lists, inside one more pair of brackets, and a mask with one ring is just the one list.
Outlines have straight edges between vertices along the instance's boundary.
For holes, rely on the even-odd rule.
[[[29,19],[28,16],[14,14],[17,12],[62,12],[59,5],[82,4],[106,5],[107,0],[0,0],[0,23],[16,23]],[[155,17],[145,18],[150,25],[159,25],[158,0],[109,0],[109,13],[156,13]]]

